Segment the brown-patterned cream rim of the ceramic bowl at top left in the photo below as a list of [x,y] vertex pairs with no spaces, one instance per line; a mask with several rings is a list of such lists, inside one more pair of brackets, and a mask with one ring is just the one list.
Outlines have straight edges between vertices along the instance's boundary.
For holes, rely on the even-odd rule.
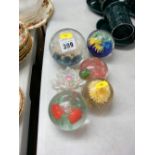
[[26,28],[29,30],[38,28],[44,25],[48,19],[54,13],[54,5],[51,0],[43,0],[41,8],[38,10],[37,15],[34,18],[20,18],[20,20],[25,24]]

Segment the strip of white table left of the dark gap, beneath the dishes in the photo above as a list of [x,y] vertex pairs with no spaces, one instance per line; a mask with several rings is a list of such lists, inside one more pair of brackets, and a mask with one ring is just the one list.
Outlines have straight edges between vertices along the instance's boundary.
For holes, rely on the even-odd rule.
[[19,153],[20,155],[26,155],[27,139],[28,139],[28,126],[29,126],[29,115],[30,115],[30,82],[32,66],[36,55],[36,32],[31,32],[33,38],[33,46],[29,55],[19,65],[19,86],[22,89],[25,96],[25,108],[22,119],[19,123]]

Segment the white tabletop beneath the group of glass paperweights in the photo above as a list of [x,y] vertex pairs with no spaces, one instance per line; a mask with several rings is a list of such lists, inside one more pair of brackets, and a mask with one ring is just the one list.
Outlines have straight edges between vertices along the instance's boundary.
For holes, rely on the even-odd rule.
[[74,132],[58,130],[48,115],[56,94],[52,80],[62,68],[49,52],[53,34],[61,28],[74,28],[85,39],[101,17],[92,13],[85,0],[54,0],[55,13],[47,26],[38,125],[37,155],[134,155],[134,49],[114,49],[105,59],[109,81],[114,88],[113,104],[102,115],[88,114],[90,123]]

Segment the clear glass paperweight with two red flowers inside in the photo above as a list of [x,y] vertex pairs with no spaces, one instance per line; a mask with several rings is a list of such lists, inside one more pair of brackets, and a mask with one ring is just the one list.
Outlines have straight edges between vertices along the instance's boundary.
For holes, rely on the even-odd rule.
[[62,130],[72,131],[84,124],[87,106],[79,93],[62,91],[50,101],[49,115],[52,122]]

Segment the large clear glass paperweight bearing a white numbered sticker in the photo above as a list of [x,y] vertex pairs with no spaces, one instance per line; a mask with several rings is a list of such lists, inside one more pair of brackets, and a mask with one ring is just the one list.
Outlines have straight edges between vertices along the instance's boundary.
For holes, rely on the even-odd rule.
[[86,43],[76,30],[66,28],[56,32],[50,41],[50,50],[57,63],[73,66],[85,57]]

